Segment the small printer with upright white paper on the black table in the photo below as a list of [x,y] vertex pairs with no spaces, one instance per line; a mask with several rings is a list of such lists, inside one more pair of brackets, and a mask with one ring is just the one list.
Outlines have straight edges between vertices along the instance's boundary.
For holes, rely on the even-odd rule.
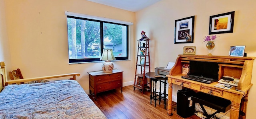
[[166,68],[164,67],[156,67],[155,68],[155,73],[156,76],[161,76],[162,78],[166,78],[166,75],[169,74],[170,69],[174,66],[174,62],[169,62]]

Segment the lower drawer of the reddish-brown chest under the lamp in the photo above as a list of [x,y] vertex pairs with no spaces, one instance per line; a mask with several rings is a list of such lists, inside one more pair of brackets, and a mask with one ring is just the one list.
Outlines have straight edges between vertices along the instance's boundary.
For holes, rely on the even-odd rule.
[[122,80],[115,80],[112,82],[105,82],[101,84],[96,84],[96,93],[104,92],[107,90],[112,90],[120,88],[122,86]]

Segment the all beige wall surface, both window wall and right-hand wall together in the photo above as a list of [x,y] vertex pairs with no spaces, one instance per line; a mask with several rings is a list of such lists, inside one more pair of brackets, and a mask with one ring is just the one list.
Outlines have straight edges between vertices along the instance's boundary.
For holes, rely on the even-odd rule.
[[[26,78],[79,72],[81,76],[77,80],[84,90],[88,90],[87,72],[101,70],[101,63],[68,64],[64,11],[134,23],[130,42],[131,60],[114,62],[115,68],[124,70],[124,82],[133,83],[134,80],[134,46],[137,46],[135,41],[140,38],[140,31],[146,31],[152,39],[150,62],[151,70],[154,70],[155,67],[166,66],[168,62],[175,62],[184,46],[196,46],[197,55],[206,55],[206,44],[202,41],[208,35],[209,16],[225,12],[236,11],[234,33],[218,34],[220,37],[215,41],[212,54],[228,55],[231,45],[246,45],[247,55],[255,57],[255,4],[254,0],[162,0],[135,14],[86,0],[0,0],[0,60],[9,64],[8,69],[21,68]],[[189,16],[195,16],[194,43],[174,44],[174,21]],[[255,74],[254,68],[254,84]],[[180,89],[178,86],[174,88]],[[255,93],[255,86],[252,86],[247,119],[254,116]]]

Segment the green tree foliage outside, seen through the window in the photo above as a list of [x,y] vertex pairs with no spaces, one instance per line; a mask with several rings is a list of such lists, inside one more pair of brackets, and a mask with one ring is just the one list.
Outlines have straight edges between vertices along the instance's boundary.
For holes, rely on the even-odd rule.
[[[71,19],[74,18],[67,18],[67,29],[68,29],[68,44],[69,44],[69,50],[72,51],[72,23]],[[81,21],[80,19],[76,19],[76,49],[80,50],[84,45],[84,50],[82,49],[82,53],[85,53],[85,56],[88,56],[88,51],[90,51],[91,44],[100,44],[101,43],[101,33],[100,33],[100,22],[98,21],[90,21],[90,20],[84,20],[85,21],[85,27],[84,27],[84,37],[85,41],[84,44],[81,44]],[[113,45],[118,45],[122,43],[122,30],[123,28],[126,28],[126,26],[123,25],[117,25],[112,23],[103,23],[103,37],[111,40]],[[102,39],[103,40],[103,39]]]

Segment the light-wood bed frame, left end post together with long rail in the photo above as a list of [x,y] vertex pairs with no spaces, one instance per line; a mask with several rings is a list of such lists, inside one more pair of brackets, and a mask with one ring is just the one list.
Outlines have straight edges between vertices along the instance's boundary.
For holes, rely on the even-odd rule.
[[0,92],[2,91],[4,86],[7,86],[8,84],[16,84],[21,82],[30,82],[34,80],[45,80],[45,79],[52,79],[52,78],[61,78],[61,77],[67,77],[72,76],[72,80],[76,80],[76,76],[80,76],[79,73],[70,73],[70,74],[59,74],[59,75],[52,75],[52,76],[41,76],[41,77],[34,77],[34,78],[24,78],[24,79],[16,79],[16,80],[8,80],[7,73],[6,73],[6,66],[5,62],[0,62],[1,70],[0,70]]

